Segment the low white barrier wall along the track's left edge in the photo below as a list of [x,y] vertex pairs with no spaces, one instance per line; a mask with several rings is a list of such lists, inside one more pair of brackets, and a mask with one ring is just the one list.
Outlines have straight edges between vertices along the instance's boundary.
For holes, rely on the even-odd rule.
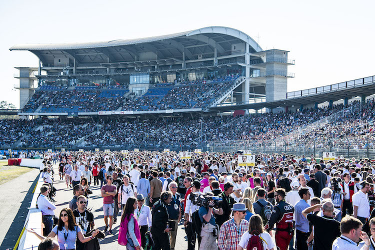
[[[22,161],[23,160],[24,159],[22,159]],[[24,222],[21,235],[19,235],[20,239],[19,239],[19,244],[17,248],[18,250],[37,249],[40,243],[39,238],[37,238],[33,233],[30,233],[24,230],[24,228],[33,228],[38,234],[43,235],[41,211],[35,207],[36,200],[40,192],[40,187],[43,183],[44,183],[43,177],[41,177],[41,174],[39,174],[39,178],[34,189],[34,194],[32,195],[30,207],[28,208],[26,220]]]

